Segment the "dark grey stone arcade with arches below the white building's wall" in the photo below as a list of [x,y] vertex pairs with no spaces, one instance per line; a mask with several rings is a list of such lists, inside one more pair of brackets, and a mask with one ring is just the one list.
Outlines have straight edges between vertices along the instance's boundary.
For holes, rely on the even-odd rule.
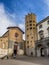
[[36,56],[49,56],[49,37],[36,41],[35,45]]

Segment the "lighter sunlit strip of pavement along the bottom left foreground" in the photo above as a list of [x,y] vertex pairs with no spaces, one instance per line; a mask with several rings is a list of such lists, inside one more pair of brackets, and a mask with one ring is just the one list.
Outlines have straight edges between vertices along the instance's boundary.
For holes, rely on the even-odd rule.
[[0,65],[38,65],[38,64],[10,59],[10,60],[0,60]]

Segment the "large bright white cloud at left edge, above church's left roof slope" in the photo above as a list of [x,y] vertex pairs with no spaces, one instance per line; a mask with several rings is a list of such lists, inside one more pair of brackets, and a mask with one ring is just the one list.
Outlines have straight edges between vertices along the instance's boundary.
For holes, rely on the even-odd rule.
[[[12,15],[13,16],[13,15]],[[12,19],[9,18],[9,15],[6,14],[3,4],[0,4],[0,36],[2,36],[6,31],[8,26],[13,26],[15,23]]]

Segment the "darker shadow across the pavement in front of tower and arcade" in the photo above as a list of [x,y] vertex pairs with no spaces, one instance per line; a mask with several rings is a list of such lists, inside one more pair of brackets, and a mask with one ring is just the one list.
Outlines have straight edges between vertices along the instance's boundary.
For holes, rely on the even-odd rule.
[[30,62],[40,65],[49,65],[49,58],[48,57],[29,57],[29,56],[16,56],[13,58],[14,60],[20,60],[24,62]]

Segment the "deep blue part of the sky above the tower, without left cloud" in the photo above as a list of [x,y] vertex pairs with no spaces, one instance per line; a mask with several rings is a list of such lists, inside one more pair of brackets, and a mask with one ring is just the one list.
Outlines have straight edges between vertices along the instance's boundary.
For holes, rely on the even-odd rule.
[[15,18],[17,18],[17,20],[19,19],[18,22],[20,23],[20,20],[30,12],[37,15],[38,22],[48,16],[47,1],[48,0],[0,0],[0,3],[4,4],[7,13],[15,14]]

